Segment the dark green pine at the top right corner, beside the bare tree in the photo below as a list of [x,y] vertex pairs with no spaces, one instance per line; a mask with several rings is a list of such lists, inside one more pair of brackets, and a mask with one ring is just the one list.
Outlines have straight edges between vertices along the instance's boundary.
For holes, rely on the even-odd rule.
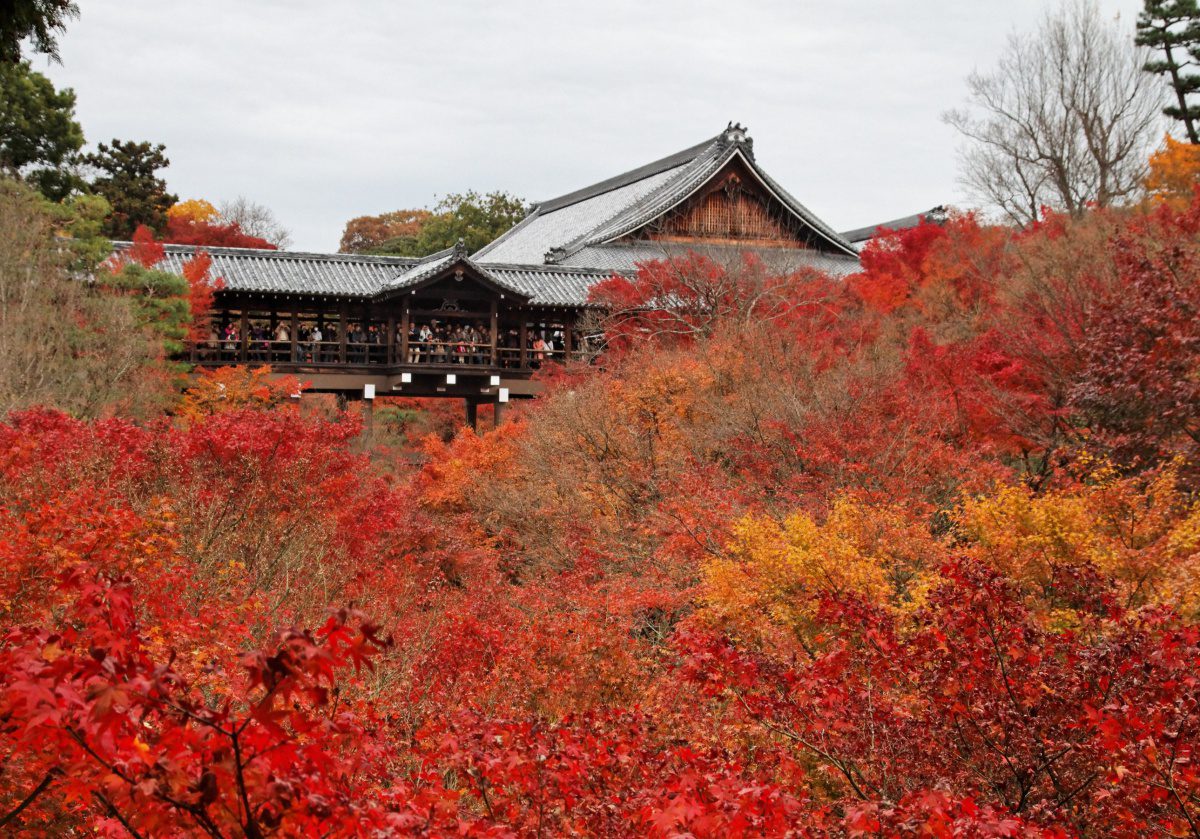
[[1168,77],[1175,104],[1163,113],[1183,122],[1192,143],[1200,144],[1200,104],[1188,97],[1200,92],[1200,8],[1196,0],[1146,0],[1138,16],[1138,44],[1159,58],[1146,62],[1146,72]]

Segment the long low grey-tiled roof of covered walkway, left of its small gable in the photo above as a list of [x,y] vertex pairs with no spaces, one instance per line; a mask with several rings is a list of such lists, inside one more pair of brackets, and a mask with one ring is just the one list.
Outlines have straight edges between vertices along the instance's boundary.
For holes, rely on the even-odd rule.
[[[113,242],[118,253],[128,247],[127,241]],[[246,247],[197,248],[191,245],[163,247],[166,259],[160,268],[181,274],[184,263],[197,250],[203,250],[212,257],[212,276],[221,277],[224,287],[234,292],[371,296],[385,282],[420,262],[412,257],[367,257],[354,253],[298,253]]]

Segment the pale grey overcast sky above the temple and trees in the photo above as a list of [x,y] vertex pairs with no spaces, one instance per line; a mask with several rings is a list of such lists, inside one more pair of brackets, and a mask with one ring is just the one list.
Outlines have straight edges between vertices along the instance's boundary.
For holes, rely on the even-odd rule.
[[[448,192],[552,198],[749,126],[838,229],[962,203],[940,115],[1050,0],[79,0],[90,144],[167,145],[181,198],[245,194],[294,247]],[[1130,31],[1140,0],[1100,0]]]

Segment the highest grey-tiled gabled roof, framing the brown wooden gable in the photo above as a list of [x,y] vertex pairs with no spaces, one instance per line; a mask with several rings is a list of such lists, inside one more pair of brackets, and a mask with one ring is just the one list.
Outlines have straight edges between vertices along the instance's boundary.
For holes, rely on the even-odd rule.
[[605,245],[684,202],[726,163],[740,157],[794,216],[815,234],[820,250],[853,258],[848,241],[821,221],[755,162],[740,126],[670,157],[584,190],[542,202],[516,227],[475,253],[476,262],[574,264],[581,251]]

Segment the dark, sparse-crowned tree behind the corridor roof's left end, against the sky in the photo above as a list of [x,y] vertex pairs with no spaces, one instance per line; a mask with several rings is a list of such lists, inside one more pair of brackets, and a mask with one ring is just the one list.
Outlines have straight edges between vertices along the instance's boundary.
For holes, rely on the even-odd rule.
[[113,208],[104,223],[104,235],[131,239],[139,224],[161,232],[167,226],[167,210],[179,200],[167,192],[158,170],[170,166],[162,144],[114,139],[84,160],[97,170],[91,188]]

